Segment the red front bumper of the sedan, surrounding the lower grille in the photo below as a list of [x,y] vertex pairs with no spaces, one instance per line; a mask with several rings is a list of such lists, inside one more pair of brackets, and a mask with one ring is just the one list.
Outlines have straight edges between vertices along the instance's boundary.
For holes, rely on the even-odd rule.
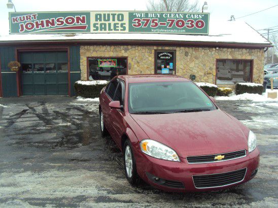
[[[150,185],[165,191],[187,192],[187,191],[212,191],[229,188],[251,180],[256,175],[259,165],[259,149],[256,148],[247,156],[222,162],[188,164],[186,158],[180,158],[181,162],[167,161],[148,156],[142,152],[135,155],[137,173]],[[221,174],[226,172],[247,169],[244,178],[236,183],[210,188],[196,188],[193,176]],[[254,174],[255,173],[255,174]],[[169,181],[168,184],[177,185],[181,182],[184,186],[173,188],[166,184],[159,184],[155,179]]]

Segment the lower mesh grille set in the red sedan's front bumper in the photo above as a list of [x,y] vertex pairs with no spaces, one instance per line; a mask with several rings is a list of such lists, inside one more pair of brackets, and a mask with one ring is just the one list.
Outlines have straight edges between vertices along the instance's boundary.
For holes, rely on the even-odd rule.
[[222,174],[196,175],[193,182],[196,188],[213,188],[239,183],[244,180],[247,169]]

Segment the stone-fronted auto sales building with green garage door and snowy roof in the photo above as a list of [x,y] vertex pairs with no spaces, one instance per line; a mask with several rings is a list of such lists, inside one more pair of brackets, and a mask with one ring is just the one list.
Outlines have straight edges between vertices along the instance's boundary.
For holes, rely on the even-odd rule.
[[[10,13],[0,37],[0,96],[74,96],[77,80],[177,74],[234,87],[263,82],[271,43],[241,21],[207,13]],[[8,64],[20,63],[17,70]]]

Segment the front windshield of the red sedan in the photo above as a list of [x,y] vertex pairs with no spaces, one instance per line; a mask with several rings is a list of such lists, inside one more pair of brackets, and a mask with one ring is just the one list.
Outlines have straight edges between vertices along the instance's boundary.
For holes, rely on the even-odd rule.
[[215,110],[213,102],[191,81],[130,83],[130,113],[174,113]]

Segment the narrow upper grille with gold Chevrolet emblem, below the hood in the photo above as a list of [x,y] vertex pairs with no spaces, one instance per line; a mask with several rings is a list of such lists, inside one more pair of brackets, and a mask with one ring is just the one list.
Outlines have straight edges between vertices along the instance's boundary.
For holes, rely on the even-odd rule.
[[[219,156],[219,155],[224,156],[224,158],[221,160],[215,159],[215,157]],[[189,164],[192,164],[192,163],[206,163],[206,162],[221,162],[221,161],[236,159],[236,158],[245,157],[245,156],[246,156],[246,150],[244,149],[244,150],[222,153],[222,154],[188,156],[186,159]]]

